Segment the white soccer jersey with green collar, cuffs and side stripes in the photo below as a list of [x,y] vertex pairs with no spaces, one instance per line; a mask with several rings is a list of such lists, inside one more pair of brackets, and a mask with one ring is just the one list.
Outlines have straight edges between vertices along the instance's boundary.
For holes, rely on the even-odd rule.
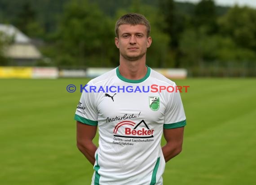
[[75,120],[98,125],[92,185],[163,184],[163,128],[184,127],[186,118],[180,93],[153,93],[153,84],[176,86],[150,67],[139,80],[125,79],[117,67],[84,88]]

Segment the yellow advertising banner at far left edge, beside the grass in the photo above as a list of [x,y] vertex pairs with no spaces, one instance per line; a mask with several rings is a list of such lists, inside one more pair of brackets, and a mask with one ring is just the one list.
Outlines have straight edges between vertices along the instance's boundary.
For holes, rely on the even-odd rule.
[[32,67],[0,67],[0,78],[31,79]]

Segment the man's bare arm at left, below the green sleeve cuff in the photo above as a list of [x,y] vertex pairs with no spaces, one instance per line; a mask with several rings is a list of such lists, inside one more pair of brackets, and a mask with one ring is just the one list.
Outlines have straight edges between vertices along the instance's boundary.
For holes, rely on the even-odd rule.
[[91,126],[76,121],[76,145],[90,163],[94,165],[94,154],[97,146],[93,144],[93,138],[97,132],[97,126]]

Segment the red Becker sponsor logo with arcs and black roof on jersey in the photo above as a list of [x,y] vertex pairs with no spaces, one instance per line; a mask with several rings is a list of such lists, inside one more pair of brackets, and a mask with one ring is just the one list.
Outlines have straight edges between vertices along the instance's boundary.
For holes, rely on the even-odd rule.
[[133,145],[135,142],[154,141],[154,129],[150,129],[142,119],[139,123],[125,120],[114,128],[114,144]]

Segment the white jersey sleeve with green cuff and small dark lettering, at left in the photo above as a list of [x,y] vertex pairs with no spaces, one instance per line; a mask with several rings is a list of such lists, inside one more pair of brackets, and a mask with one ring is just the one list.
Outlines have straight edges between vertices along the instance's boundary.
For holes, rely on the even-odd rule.
[[95,93],[90,93],[87,88],[91,85],[93,85],[92,82],[88,82],[88,85],[85,87],[85,89],[87,89],[87,92],[83,90],[83,93],[76,107],[75,120],[84,124],[97,126],[98,111],[95,103]]

